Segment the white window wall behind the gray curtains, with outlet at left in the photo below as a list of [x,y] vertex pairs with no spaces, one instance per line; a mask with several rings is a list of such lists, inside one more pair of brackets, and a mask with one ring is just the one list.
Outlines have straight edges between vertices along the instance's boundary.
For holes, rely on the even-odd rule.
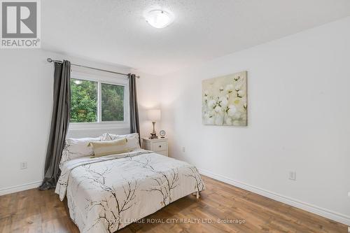
[[[0,50],[0,195],[35,188],[43,178],[54,71],[53,64],[46,62],[47,57],[123,73],[130,71],[125,66],[91,62],[44,50]],[[149,80],[154,82],[153,76]],[[152,86],[144,85],[148,85],[146,73],[141,74],[138,81],[140,105],[155,104]],[[145,115],[143,108],[140,115]],[[145,125],[143,120],[141,125]],[[21,170],[20,162],[27,162],[27,169]]]

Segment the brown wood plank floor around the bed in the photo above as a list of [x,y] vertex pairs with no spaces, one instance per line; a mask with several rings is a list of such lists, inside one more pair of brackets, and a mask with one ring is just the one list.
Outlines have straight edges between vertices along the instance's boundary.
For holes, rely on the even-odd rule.
[[[189,195],[144,219],[145,222],[178,219],[193,223],[134,223],[119,232],[347,232],[346,225],[203,178],[207,190],[199,200]],[[200,223],[198,218],[202,219]],[[218,218],[240,219],[245,223],[220,224]],[[33,189],[0,197],[0,232],[79,230],[69,218],[66,203],[60,202],[53,190]]]

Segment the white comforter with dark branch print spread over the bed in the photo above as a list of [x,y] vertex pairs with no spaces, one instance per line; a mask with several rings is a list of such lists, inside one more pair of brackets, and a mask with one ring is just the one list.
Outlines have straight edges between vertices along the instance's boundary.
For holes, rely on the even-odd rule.
[[67,197],[80,232],[116,232],[162,207],[204,190],[192,165],[137,150],[105,157],[80,157],[61,165],[55,192]]

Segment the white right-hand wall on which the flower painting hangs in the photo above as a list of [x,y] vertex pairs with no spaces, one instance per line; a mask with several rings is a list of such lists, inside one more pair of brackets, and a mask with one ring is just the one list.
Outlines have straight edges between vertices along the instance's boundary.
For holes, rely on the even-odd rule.
[[[350,224],[349,28],[347,17],[162,77],[170,155]],[[202,125],[202,80],[245,70],[248,127]]]

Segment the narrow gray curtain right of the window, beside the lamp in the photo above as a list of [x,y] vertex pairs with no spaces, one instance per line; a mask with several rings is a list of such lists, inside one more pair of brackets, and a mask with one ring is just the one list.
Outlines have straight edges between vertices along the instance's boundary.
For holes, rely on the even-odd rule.
[[[129,73],[130,133],[140,134],[139,108],[137,107],[136,76]],[[139,137],[139,143],[141,139]]]

